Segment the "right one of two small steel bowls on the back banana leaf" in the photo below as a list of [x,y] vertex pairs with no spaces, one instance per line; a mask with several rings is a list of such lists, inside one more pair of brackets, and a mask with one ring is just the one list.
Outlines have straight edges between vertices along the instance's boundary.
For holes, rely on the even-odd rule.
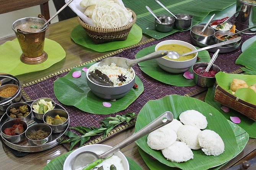
[[177,14],[174,27],[178,29],[189,29],[192,26],[193,16],[189,14]]

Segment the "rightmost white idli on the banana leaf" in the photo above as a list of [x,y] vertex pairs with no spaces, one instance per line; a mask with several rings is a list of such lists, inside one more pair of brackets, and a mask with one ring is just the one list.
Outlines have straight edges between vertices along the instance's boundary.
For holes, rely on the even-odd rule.
[[212,130],[203,130],[198,135],[199,145],[205,155],[218,156],[225,150],[224,142],[218,133]]

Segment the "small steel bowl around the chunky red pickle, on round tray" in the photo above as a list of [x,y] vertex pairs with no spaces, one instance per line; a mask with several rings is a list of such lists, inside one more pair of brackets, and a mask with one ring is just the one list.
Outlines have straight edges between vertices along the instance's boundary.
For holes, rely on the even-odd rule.
[[[6,135],[4,133],[4,130],[6,128],[11,128],[14,124],[22,124],[23,128],[24,128],[24,132],[19,134],[19,135],[15,135],[15,136],[10,136],[10,135]],[[21,141],[23,141],[26,137],[25,137],[25,133],[26,130],[28,128],[28,124],[26,122],[24,122],[23,120],[9,120],[5,123],[3,123],[2,127],[1,127],[1,135],[9,142],[11,143],[19,143]]]

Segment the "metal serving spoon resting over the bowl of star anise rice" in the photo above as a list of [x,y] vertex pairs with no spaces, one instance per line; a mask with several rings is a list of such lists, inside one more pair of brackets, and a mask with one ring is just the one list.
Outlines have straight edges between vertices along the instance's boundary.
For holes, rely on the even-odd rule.
[[168,55],[168,51],[161,50],[161,51],[156,51],[156,52],[150,53],[149,55],[146,55],[146,56],[144,56],[142,58],[138,58],[138,59],[127,59],[127,58],[122,58],[122,57],[108,57],[108,58],[103,59],[99,63],[99,66],[104,66],[104,65],[110,66],[111,63],[115,63],[119,67],[129,69],[134,64],[140,63],[142,61],[148,61],[150,59],[160,58],[160,57],[163,57],[166,55]]

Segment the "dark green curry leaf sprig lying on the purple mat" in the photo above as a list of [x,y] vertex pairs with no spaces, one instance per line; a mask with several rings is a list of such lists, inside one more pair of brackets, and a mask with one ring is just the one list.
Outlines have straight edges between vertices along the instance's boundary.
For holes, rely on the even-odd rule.
[[99,128],[97,127],[83,127],[83,126],[76,126],[70,127],[70,129],[76,130],[77,132],[82,133],[82,135],[77,135],[72,131],[66,131],[64,134],[68,136],[67,140],[62,141],[62,143],[71,143],[69,150],[71,151],[72,148],[80,142],[81,147],[86,141],[88,141],[91,136],[101,135],[103,134],[103,139],[106,138],[108,133],[117,125],[122,122],[129,123],[131,119],[136,117],[135,113],[126,113],[125,115],[116,115],[116,117],[107,117],[101,120],[101,125]]

